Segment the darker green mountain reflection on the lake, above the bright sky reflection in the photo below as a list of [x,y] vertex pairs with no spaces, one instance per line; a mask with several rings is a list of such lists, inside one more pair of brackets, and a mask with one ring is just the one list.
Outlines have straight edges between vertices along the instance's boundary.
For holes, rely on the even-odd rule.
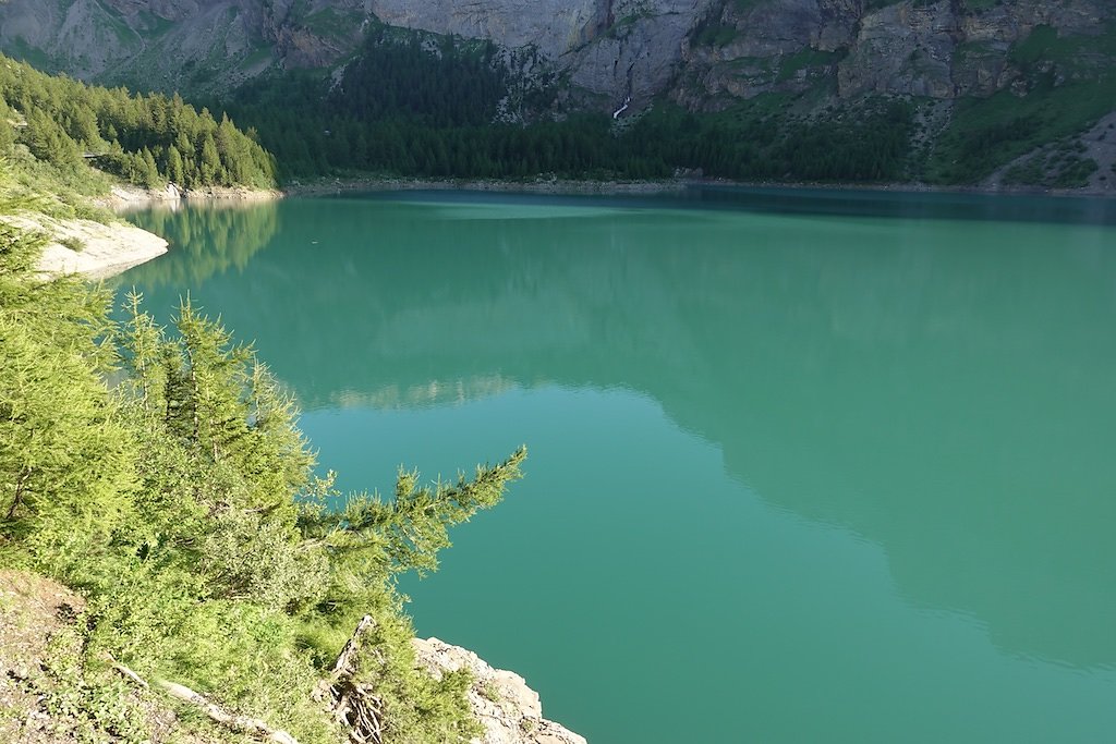
[[158,312],[190,289],[311,412],[648,396],[769,504],[882,547],[908,602],[972,616],[1011,655],[1110,669],[1110,210],[959,203],[291,200],[229,223],[229,244],[260,245],[242,272],[179,252],[123,281]]

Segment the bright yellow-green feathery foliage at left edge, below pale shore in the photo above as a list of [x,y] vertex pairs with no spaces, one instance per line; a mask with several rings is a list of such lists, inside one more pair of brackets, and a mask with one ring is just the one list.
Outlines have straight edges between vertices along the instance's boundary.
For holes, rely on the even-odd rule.
[[[27,205],[2,199],[0,213]],[[35,278],[42,245],[0,223],[0,540],[64,570],[129,515],[135,451],[99,377],[107,296]]]

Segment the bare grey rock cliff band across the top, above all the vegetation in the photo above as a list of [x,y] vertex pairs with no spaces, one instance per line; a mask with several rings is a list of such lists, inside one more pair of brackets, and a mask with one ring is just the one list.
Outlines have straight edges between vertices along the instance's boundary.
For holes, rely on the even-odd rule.
[[0,48],[83,78],[222,89],[340,64],[378,20],[530,51],[602,108],[661,93],[718,108],[817,86],[1022,93],[1016,52],[1036,29],[1057,41],[1045,64],[1071,78],[1112,64],[1114,19],[1106,0],[11,0]]

